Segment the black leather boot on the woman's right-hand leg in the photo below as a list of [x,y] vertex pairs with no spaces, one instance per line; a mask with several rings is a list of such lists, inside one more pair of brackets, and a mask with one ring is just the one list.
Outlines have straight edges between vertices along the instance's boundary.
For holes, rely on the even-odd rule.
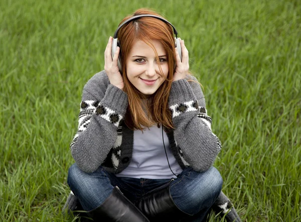
[[189,214],[175,204],[170,193],[170,182],[143,195],[135,205],[150,221],[179,221]]

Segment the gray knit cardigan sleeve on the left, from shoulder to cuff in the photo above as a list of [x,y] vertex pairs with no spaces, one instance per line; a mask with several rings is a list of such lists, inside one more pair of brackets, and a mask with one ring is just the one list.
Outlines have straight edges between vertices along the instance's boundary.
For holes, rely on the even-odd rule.
[[105,71],[84,86],[78,131],[70,145],[78,167],[94,172],[103,163],[117,139],[117,128],[128,105],[127,94],[109,83]]

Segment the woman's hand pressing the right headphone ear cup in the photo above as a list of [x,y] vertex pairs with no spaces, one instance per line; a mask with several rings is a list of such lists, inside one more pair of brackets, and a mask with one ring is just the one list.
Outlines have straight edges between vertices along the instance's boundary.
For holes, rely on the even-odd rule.
[[189,70],[189,59],[188,59],[188,50],[184,44],[184,40],[180,39],[181,43],[181,49],[182,49],[182,62],[181,58],[179,56],[177,48],[175,48],[176,51],[176,71],[174,73],[174,81],[177,81],[179,79],[184,79],[186,74]]

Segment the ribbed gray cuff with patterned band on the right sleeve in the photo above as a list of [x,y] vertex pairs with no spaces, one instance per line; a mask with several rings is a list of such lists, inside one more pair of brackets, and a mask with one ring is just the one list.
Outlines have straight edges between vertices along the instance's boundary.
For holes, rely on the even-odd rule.
[[173,113],[173,118],[180,116],[182,113],[199,112],[197,98],[186,79],[180,79],[172,83],[169,108]]

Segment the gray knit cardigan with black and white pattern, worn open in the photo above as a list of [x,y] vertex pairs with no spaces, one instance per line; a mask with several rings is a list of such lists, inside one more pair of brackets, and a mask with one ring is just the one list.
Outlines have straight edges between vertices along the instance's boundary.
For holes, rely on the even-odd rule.
[[[175,129],[167,131],[170,149],[182,169],[208,170],[221,150],[221,143],[211,131],[205,98],[195,77],[187,75],[172,83],[169,108]],[[100,165],[111,173],[124,170],[131,161],[133,131],[123,123],[128,106],[127,94],[110,84],[105,71],[96,73],[84,86],[78,131],[70,145],[78,167],[94,172]],[[78,205],[71,192],[64,209]],[[221,192],[213,208],[239,217],[229,199]],[[231,209],[232,207],[232,209]],[[231,212],[231,213],[230,213]],[[235,221],[229,220],[229,221]]]

